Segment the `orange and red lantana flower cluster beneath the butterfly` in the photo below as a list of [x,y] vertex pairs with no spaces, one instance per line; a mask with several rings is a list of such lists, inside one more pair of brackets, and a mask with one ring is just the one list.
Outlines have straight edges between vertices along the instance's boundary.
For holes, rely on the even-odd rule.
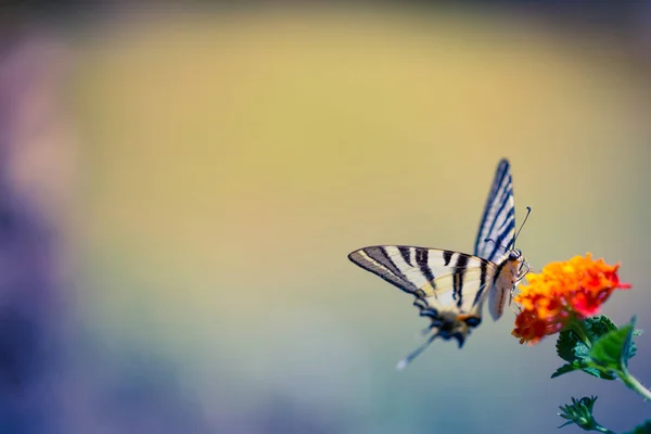
[[615,289],[628,289],[617,277],[620,264],[575,256],[551,263],[540,273],[528,273],[528,285],[514,298],[521,306],[512,334],[520,343],[535,344],[560,332],[571,320],[591,317]]

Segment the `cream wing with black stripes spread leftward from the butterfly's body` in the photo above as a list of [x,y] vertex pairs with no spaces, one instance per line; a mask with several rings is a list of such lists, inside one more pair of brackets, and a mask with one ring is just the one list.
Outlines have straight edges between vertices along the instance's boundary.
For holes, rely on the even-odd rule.
[[496,272],[494,263],[476,256],[405,245],[365,247],[348,258],[416,296],[413,304],[420,315],[432,320],[430,329],[435,333],[431,341],[455,337],[459,346],[480,324]]

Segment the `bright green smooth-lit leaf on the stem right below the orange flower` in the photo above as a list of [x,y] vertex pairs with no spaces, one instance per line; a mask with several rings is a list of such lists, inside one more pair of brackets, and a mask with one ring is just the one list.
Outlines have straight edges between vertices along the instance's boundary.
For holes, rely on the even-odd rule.
[[636,318],[622,329],[613,330],[601,336],[590,349],[592,362],[610,371],[624,371],[630,357],[630,344],[635,331]]

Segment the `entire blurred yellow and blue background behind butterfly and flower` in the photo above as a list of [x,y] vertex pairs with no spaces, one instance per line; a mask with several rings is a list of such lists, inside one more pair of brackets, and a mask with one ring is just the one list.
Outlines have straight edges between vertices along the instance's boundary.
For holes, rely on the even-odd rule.
[[[513,315],[426,326],[346,258],[471,252],[511,161],[536,269],[592,252],[651,328],[651,9],[10,2],[0,9],[1,433],[548,433],[599,395]],[[630,370],[651,383],[651,333]],[[576,426],[564,432],[579,432]]]

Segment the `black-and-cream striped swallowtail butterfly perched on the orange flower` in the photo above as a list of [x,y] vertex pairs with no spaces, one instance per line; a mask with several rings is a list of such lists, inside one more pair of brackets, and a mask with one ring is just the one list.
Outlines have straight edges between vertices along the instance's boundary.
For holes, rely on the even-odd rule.
[[[528,212],[527,207],[525,221]],[[348,255],[354,264],[413,295],[420,316],[431,320],[423,330],[429,339],[398,362],[398,370],[436,337],[455,339],[462,347],[482,322],[486,301],[493,319],[501,317],[507,296],[510,304],[515,286],[531,270],[515,248],[516,237],[511,167],[501,159],[484,206],[474,255],[407,245],[374,245]]]

